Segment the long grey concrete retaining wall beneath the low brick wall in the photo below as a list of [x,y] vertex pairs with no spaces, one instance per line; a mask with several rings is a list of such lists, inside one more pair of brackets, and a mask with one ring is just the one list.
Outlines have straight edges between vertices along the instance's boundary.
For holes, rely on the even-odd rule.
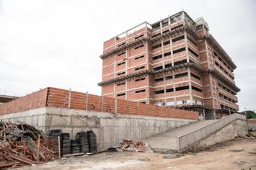
[[45,134],[48,134],[52,129],[61,129],[63,133],[70,133],[72,138],[75,138],[76,133],[81,130],[93,130],[97,135],[99,149],[115,146],[122,139],[139,140],[195,122],[195,120],[120,115],[61,107],[43,107],[1,115],[1,119],[26,122],[43,130]]

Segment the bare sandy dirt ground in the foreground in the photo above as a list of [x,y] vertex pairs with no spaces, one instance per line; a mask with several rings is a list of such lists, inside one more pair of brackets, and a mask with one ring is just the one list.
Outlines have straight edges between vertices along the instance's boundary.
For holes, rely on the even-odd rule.
[[[256,134],[255,134],[256,135]],[[87,169],[256,169],[256,139],[239,138],[206,151],[164,158],[161,153],[105,152],[61,158],[26,170]],[[18,170],[17,169],[17,170]]]

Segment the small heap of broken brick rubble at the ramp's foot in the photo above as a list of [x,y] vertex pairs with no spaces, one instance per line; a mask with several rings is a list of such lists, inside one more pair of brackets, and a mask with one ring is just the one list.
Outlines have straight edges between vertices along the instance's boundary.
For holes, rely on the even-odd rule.
[[136,140],[122,140],[118,151],[152,152],[149,144]]

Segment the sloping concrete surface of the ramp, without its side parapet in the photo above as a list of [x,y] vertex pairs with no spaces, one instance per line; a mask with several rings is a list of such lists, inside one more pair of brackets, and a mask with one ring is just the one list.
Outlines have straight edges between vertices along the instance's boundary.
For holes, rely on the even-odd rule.
[[153,135],[144,139],[143,141],[148,143],[154,151],[176,151],[178,150],[178,137],[180,135],[184,135],[193,132],[194,130],[206,127],[207,125],[211,125],[216,121],[218,120],[200,120],[198,122],[192,122],[188,125]]

